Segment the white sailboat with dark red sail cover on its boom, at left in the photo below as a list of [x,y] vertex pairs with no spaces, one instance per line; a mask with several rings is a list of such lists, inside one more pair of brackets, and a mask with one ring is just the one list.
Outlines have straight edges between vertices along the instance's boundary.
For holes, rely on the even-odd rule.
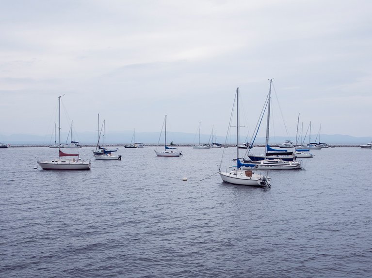
[[[58,97],[58,150],[59,158],[40,160],[37,163],[43,170],[90,170],[90,160],[79,159],[79,154],[66,154],[61,151],[61,96]],[[65,156],[78,156],[78,159],[66,159]],[[63,157],[63,158],[61,158]]]

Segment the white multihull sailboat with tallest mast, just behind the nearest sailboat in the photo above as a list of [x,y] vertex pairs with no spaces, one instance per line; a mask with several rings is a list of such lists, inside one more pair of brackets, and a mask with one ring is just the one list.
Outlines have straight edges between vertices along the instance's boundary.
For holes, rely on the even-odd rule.
[[[269,89],[269,95],[268,95],[268,103],[267,103],[267,123],[266,123],[266,141],[265,146],[266,150],[273,150],[269,146],[269,129],[270,129],[270,102],[271,102],[271,85],[272,85],[273,79],[270,79],[270,89]],[[280,153],[278,153],[280,154]],[[268,159],[268,152],[265,152],[265,157],[263,160],[254,161],[254,164],[256,165],[256,168],[259,170],[291,170],[291,169],[302,169],[302,163],[297,161],[286,161],[281,158],[275,158],[275,159]],[[248,156],[251,158],[251,156]],[[273,157],[273,156],[272,156]]]

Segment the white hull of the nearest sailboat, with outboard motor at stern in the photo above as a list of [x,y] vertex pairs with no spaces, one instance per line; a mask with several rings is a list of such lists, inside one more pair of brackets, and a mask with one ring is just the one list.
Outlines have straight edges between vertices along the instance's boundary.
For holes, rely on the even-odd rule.
[[[250,172],[251,176],[245,173]],[[252,171],[233,170],[231,172],[219,172],[222,180],[234,185],[250,185],[250,186],[267,186],[270,185],[270,180],[263,175],[255,174]]]

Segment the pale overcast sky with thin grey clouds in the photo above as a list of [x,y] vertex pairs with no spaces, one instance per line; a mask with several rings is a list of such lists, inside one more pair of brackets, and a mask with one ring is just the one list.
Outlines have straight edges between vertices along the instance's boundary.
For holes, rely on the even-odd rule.
[[[272,90],[276,136],[372,136],[370,0],[0,0],[0,134],[241,134]],[[265,132],[262,128],[259,135]],[[305,131],[304,131],[305,132]]]

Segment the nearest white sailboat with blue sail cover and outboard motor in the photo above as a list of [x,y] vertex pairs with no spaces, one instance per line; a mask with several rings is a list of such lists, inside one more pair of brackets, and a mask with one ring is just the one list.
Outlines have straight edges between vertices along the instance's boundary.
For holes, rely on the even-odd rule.
[[[250,185],[250,186],[270,186],[270,178],[265,175],[254,173],[253,170],[242,170],[243,166],[248,166],[247,164],[242,164],[239,159],[239,88],[236,89],[236,150],[237,150],[237,166],[231,171],[222,172],[221,167],[218,173],[221,179],[229,184],[234,185]],[[253,167],[255,165],[252,165]]]

